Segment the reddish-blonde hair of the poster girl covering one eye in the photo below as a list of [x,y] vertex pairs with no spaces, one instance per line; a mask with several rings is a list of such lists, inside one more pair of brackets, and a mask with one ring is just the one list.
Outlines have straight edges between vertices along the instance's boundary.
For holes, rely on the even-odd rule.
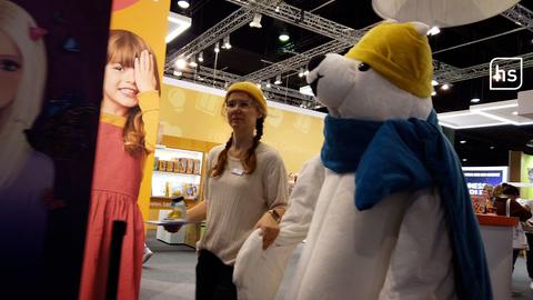
[[[161,93],[159,81],[158,63],[155,53],[152,51],[141,37],[127,30],[111,30],[108,42],[107,63],[120,63],[124,68],[133,68],[135,58],[141,57],[141,52],[148,50],[153,59],[153,72],[155,76],[155,89]],[[123,131],[124,147],[130,154],[138,154],[145,150],[144,148],[144,123],[142,122],[142,112],[139,106],[128,111],[127,121]]]

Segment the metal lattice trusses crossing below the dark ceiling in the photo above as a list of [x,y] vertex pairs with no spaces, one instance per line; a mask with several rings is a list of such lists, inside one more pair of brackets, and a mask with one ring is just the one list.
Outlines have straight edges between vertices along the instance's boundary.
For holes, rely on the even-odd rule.
[[[185,72],[183,74],[183,79],[221,89],[224,89],[229,83],[239,80],[261,82],[262,87],[265,87],[266,82],[264,80],[274,78],[278,74],[298,70],[299,68],[304,67],[314,56],[341,52],[342,50],[353,46],[368,30],[375,26],[372,24],[366,28],[355,30],[322,18],[318,14],[313,14],[296,7],[290,6],[280,0],[227,1],[241,6],[241,8],[212,28],[208,29],[205,32],[197,37],[180,50],[170,54],[165,63],[167,73],[170,73],[170,71],[174,68],[174,63],[178,58],[190,58],[203,49],[214,44],[217,41],[222,40],[231,32],[250,22],[253,18],[253,13],[255,12],[329,37],[332,39],[332,41],[310,49],[305,52],[298,53],[289,59],[275,62],[269,67],[243,77],[200,66],[194,72]],[[501,14],[516,24],[533,31],[533,12],[523,6],[516,4]],[[533,67],[533,53],[526,53],[522,56],[522,59],[523,68]],[[434,60],[433,68],[436,81],[442,83],[452,83],[479,77],[486,77],[489,74],[490,64],[482,63],[461,69]],[[203,81],[199,81],[199,78],[203,79]],[[314,107],[315,104],[315,100],[312,97],[302,94],[300,91],[294,89],[272,84],[269,89],[263,88],[263,90],[265,91],[265,96],[269,98],[269,100],[304,107]]]

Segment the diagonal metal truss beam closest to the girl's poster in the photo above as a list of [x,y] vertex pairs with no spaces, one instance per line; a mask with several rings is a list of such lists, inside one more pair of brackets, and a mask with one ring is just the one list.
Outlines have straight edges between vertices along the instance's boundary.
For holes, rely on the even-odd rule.
[[224,18],[222,21],[220,21],[212,28],[208,29],[202,34],[198,36],[194,40],[190,41],[180,50],[170,54],[167,58],[164,70],[169,71],[170,69],[172,69],[173,63],[178,60],[178,58],[189,58],[202,51],[203,49],[214,44],[217,41],[222,40],[231,32],[249,23],[252,18],[253,12],[245,8],[240,8],[235,10],[233,13]]

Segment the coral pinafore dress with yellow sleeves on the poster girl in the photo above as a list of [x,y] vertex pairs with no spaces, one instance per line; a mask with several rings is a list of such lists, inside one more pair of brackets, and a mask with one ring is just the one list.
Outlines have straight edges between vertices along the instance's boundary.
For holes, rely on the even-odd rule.
[[[157,92],[140,98],[145,140],[154,141],[159,104]],[[150,113],[147,113],[150,112]],[[109,256],[114,220],[127,222],[122,241],[117,299],[139,299],[144,249],[144,226],[137,203],[144,156],[124,150],[125,118],[103,113],[100,117],[91,204],[80,286],[81,300],[105,299]],[[148,146],[148,144],[147,144]],[[148,147],[152,150],[151,147]]]

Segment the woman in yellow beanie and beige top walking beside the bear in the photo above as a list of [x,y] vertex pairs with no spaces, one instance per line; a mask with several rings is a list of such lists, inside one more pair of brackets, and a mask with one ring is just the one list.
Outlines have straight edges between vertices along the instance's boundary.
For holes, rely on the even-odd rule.
[[283,160],[261,142],[266,118],[263,92],[252,82],[233,83],[223,110],[231,137],[209,151],[204,201],[187,213],[188,221],[207,219],[197,247],[197,300],[237,299],[232,276],[239,250],[255,229],[261,229],[266,249],[278,236],[288,201]]

